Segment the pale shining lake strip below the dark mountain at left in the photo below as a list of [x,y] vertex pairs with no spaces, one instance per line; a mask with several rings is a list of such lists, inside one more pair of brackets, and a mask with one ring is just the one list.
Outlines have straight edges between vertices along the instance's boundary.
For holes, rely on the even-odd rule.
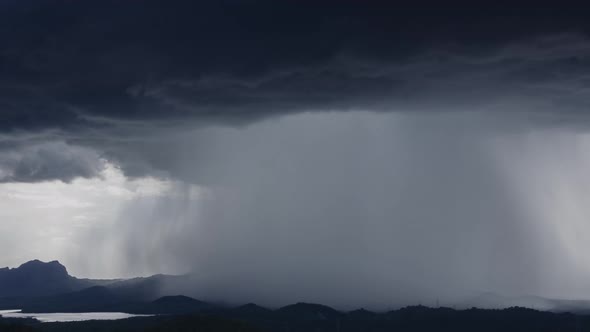
[[35,318],[43,323],[50,322],[79,322],[85,320],[115,320],[130,317],[144,317],[151,315],[134,315],[124,312],[76,312],[76,313],[23,313],[20,310],[0,310],[0,316],[5,318]]

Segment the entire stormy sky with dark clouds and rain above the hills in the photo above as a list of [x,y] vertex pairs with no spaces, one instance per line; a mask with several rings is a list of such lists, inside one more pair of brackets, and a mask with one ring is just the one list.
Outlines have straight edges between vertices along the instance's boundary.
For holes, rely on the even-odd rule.
[[0,266],[590,298],[584,8],[0,2]]

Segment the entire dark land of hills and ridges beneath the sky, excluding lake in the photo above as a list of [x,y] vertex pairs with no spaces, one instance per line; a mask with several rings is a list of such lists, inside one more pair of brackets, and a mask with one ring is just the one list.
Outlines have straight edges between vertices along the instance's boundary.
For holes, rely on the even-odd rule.
[[[522,307],[454,310],[414,306],[377,313],[364,309],[341,312],[313,303],[296,303],[276,310],[253,303],[230,308],[182,295],[158,297],[163,284],[170,281],[186,280],[165,275],[110,281],[77,279],[68,275],[58,262],[31,261],[16,269],[1,269],[0,290],[4,292],[1,294],[8,296],[0,299],[0,308],[18,308],[24,312],[120,311],[156,315],[69,323],[0,318],[0,331],[590,331],[590,316]],[[490,296],[483,300],[504,301]],[[524,300],[531,302],[531,299]],[[578,304],[533,300],[547,306]]]

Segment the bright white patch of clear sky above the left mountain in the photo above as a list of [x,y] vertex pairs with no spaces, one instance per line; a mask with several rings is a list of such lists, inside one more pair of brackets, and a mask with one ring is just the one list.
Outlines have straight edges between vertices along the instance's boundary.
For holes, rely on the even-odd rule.
[[[164,195],[171,185],[152,177],[126,178],[112,164],[107,164],[101,177],[71,183],[0,184],[0,252],[11,253],[0,255],[0,266],[60,259],[70,273],[86,275],[87,268],[69,261],[78,259],[75,253],[87,240],[84,234],[111,229],[126,204]],[[92,276],[115,277],[110,273]]]

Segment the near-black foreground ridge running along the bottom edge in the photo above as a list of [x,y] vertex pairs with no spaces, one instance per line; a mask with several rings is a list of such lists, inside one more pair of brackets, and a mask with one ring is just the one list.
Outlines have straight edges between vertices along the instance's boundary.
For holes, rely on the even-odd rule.
[[[245,315],[250,312],[252,316]],[[260,314],[264,319],[260,319]],[[240,318],[237,318],[237,316]],[[278,310],[255,305],[218,308],[191,315],[135,317],[118,321],[35,323],[0,319],[0,331],[590,331],[590,316],[551,313],[526,308],[502,310],[407,307],[385,313],[339,312],[316,304],[299,303]]]

